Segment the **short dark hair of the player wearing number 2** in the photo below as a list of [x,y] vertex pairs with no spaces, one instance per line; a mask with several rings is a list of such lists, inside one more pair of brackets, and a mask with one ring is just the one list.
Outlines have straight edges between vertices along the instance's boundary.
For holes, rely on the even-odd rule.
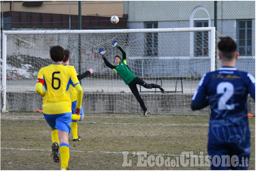
[[237,52],[237,44],[231,37],[219,37],[221,41],[218,43],[219,52],[226,60],[235,58]]

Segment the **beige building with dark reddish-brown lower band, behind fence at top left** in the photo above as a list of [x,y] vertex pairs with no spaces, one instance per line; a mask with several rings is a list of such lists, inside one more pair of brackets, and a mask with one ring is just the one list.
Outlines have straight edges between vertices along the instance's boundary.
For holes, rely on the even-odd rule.
[[[79,1],[4,1],[1,6],[2,3],[5,30],[79,27]],[[113,15],[120,18],[116,25],[109,22]],[[127,29],[123,1],[81,1],[81,22],[81,29]]]

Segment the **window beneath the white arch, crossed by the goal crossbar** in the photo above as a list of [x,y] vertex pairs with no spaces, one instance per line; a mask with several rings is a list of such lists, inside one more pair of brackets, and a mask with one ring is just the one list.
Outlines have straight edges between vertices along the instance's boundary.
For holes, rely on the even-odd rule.
[[[194,21],[194,27],[208,27],[208,21]],[[208,31],[195,33],[195,56],[208,56]]]

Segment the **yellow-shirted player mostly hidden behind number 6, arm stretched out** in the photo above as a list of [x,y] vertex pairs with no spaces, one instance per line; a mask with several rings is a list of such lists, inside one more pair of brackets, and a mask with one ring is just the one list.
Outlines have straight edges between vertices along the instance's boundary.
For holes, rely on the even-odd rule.
[[[78,75],[77,71],[75,70],[74,66],[70,66],[69,65],[69,60],[70,60],[70,52],[69,50],[65,50],[65,58],[63,59],[63,65],[70,67],[77,75],[78,80],[81,80],[87,76],[89,76],[89,74],[94,73],[94,71],[92,69],[89,69],[88,71],[86,71],[85,73]],[[71,120],[71,130],[72,130],[72,134],[73,134],[73,141],[82,141],[83,139],[77,134],[77,121],[82,121],[84,118],[83,115],[83,107],[81,106],[81,113],[80,115],[76,115],[75,114],[75,106],[77,104],[77,91],[73,88],[73,87],[69,87],[69,97],[72,101],[72,120]]]

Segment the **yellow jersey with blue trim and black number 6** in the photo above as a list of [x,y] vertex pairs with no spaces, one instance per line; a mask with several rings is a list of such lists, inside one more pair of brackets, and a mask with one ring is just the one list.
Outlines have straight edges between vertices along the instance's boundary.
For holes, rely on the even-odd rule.
[[62,64],[51,64],[41,68],[38,72],[37,82],[45,88],[43,99],[43,112],[46,114],[59,114],[71,112],[71,99],[67,93],[70,86],[80,84],[77,73],[70,67]]

